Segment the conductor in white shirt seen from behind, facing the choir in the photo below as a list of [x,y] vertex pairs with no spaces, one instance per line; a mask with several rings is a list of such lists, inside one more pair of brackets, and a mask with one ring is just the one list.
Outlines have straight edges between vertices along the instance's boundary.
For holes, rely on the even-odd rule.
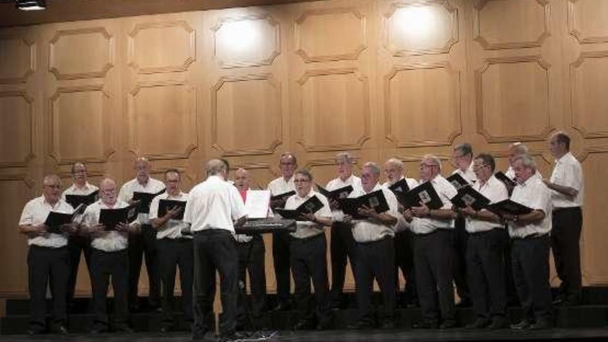
[[215,270],[220,274],[222,322],[220,333],[238,339],[236,301],[238,296],[238,252],[234,226],[247,220],[245,205],[238,190],[225,181],[228,170],[221,160],[206,165],[207,180],[188,194],[184,222],[194,234],[194,327],[192,338],[204,339],[208,327],[205,309],[211,294]]

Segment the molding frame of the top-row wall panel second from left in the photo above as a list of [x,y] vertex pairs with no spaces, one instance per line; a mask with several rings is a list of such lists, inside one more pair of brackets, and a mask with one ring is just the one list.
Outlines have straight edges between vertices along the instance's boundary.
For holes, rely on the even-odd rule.
[[[57,61],[55,60],[55,44],[57,41],[61,39],[61,37],[66,37],[70,35],[87,35],[97,33],[102,35],[108,41],[108,60],[106,63],[99,68],[99,70],[91,70],[86,73],[62,73],[57,66]],[[106,28],[97,27],[97,28],[78,28],[75,30],[59,30],[55,32],[53,38],[49,41],[49,52],[48,52],[48,70],[50,73],[55,75],[56,79],[66,80],[66,79],[84,79],[84,78],[95,78],[95,77],[106,77],[108,71],[114,66],[114,37],[111,35]]]

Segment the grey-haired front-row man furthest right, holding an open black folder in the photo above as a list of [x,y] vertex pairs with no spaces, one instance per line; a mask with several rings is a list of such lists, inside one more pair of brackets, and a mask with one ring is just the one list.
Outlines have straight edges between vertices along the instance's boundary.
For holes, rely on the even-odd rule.
[[513,329],[547,329],[553,326],[551,287],[549,285],[549,232],[551,231],[551,193],[540,177],[535,176],[536,163],[531,155],[522,155],[513,164],[517,185],[511,200],[533,209],[512,216],[511,265],[517,294],[522,303],[522,321]]

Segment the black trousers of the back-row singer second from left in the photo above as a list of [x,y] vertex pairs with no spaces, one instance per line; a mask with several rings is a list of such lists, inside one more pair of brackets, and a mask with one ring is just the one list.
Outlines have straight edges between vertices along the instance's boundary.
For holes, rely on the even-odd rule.
[[160,304],[160,272],[156,255],[156,230],[151,225],[142,225],[142,234],[129,234],[129,305],[137,305],[137,289],[143,257],[146,257],[148,272],[149,303]]

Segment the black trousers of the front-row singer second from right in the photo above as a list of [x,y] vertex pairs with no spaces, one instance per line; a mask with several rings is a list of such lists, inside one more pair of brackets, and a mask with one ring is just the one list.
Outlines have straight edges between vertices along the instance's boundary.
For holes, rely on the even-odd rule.
[[466,267],[473,309],[480,319],[506,315],[503,234],[501,227],[468,236]]

